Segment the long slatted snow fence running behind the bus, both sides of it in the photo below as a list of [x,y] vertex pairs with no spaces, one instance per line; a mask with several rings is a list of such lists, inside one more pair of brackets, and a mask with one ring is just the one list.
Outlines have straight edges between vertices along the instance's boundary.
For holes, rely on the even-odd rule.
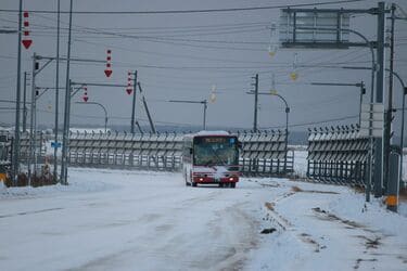
[[[185,133],[69,133],[68,160],[75,167],[109,167],[178,171],[182,163]],[[287,151],[285,133],[277,131],[238,131],[242,142],[239,163],[244,176],[284,176],[293,172],[293,151]],[[46,141],[52,134],[37,133],[37,162],[44,162]],[[29,154],[29,133],[21,136],[22,163]],[[49,157],[52,162],[52,157]]]

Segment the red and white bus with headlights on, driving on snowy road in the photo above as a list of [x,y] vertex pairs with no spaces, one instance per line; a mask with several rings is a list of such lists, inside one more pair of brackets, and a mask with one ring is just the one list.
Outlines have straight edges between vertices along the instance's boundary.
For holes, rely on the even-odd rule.
[[218,184],[236,188],[239,181],[237,136],[226,131],[201,131],[183,137],[182,170],[186,185]]

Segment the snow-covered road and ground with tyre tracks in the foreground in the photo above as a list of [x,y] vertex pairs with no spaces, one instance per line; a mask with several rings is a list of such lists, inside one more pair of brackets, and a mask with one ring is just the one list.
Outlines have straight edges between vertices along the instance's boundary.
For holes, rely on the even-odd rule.
[[[0,186],[1,270],[407,270],[407,208],[334,185],[71,169],[71,185]],[[262,231],[269,234],[262,234]]]

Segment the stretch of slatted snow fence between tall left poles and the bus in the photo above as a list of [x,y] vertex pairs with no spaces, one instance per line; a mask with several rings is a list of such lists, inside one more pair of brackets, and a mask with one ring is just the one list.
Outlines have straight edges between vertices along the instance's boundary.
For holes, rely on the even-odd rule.
[[112,168],[179,170],[182,156],[180,133],[73,133],[69,164]]

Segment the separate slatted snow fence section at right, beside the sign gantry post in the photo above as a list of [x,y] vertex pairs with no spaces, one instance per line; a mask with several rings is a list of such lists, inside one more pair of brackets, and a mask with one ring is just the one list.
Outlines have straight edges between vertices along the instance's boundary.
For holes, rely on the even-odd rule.
[[309,129],[307,177],[314,181],[365,185],[369,139],[356,125]]

